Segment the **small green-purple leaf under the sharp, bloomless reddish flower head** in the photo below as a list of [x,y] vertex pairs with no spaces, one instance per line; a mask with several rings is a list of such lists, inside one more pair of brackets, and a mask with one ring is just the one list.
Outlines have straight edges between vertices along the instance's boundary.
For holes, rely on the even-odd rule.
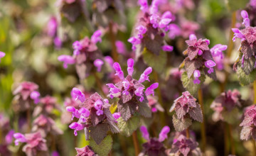
[[173,116],[173,123],[174,123],[174,128],[176,131],[181,132],[182,130],[185,130],[192,124],[191,118],[181,118],[178,119],[177,115],[174,114]]

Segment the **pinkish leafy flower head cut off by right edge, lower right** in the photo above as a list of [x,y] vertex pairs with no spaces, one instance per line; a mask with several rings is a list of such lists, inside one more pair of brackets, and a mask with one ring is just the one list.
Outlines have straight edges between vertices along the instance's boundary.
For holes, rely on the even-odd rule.
[[240,133],[241,140],[248,140],[251,137],[256,140],[256,108],[255,106],[250,107],[245,111],[245,118],[243,119],[240,126],[242,130]]

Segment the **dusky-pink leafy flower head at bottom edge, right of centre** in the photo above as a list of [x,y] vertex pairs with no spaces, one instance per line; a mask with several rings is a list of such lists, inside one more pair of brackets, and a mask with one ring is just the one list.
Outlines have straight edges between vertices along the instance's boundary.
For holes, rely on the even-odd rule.
[[173,144],[171,145],[171,153],[175,155],[201,155],[201,152],[196,152],[198,143],[192,138],[186,138],[185,135],[179,135],[177,139],[174,139]]

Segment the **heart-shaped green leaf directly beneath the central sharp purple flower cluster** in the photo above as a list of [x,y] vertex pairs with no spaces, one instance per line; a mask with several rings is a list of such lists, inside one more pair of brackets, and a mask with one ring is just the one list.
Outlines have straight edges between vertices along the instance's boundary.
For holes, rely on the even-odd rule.
[[120,133],[126,135],[127,137],[132,135],[134,130],[137,130],[137,128],[139,127],[139,123],[139,116],[132,116],[132,118],[129,118],[128,121],[124,121],[122,117],[117,119],[117,126],[120,130]]

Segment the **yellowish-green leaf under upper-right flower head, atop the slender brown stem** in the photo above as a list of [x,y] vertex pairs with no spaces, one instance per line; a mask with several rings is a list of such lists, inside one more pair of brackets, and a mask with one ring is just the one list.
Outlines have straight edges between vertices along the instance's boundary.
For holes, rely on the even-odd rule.
[[189,91],[192,95],[196,95],[198,89],[200,89],[201,85],[206,79],[206,76],[204,74],[201,74],[201,77],[199,77],[201,83],[200,84],[194,84],[193,80],[194,78],[188,78],[188,74],[186,72],[183,72],[181,75],[181,82],[183,84],[183,87]]

